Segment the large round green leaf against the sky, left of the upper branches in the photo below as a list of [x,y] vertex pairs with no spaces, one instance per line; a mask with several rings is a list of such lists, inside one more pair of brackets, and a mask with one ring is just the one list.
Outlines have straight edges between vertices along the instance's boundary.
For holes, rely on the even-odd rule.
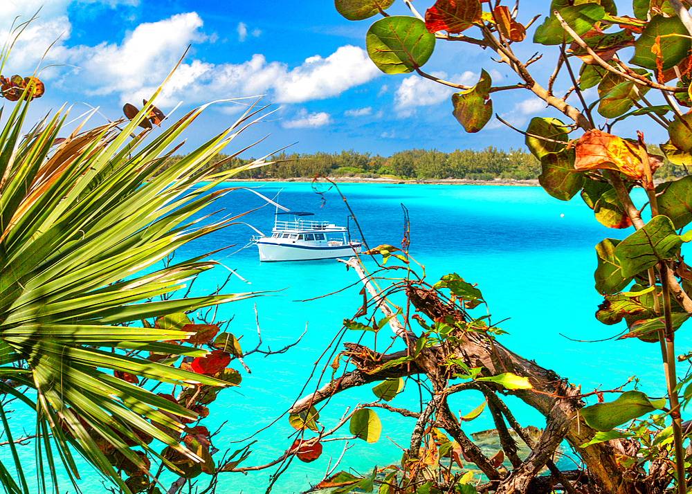
[[435,35],[420,19],[394,15],[376,21],[365,35],[370,60],[385,74],[403,74],[423,66],[435,48]]

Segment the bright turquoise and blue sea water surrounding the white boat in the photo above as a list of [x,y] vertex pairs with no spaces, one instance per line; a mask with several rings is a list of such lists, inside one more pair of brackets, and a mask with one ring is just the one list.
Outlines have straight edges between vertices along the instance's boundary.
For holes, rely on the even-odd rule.
[[[254,187],[265,196],[291,210],[315,212],[315,219],[344,224],[349,212],[334,189],[316,194],[309,183],[227,183],[226,187]],[[321,190],[327,187],[320,186]],[[608,390],[637,376],[641,389],[652,396],[662,396],[664,381],[659,346],[639,340],[606,340],[621,331],[619,326],[605,326],[594,318],[603,300],[594,289],[593,272],[597,266],[594,246],[605,237],[624,238],[630,230],[612,230],[601,226],[590,210],[576,196],[570,202],[548,196],[540,187],[503,187],[477,185],[383,185],[340,184],[358,221],[367,244],[400,246],[403,238],[403,208],[410,217],[410,255],[425,266],[430,284],[448,273],[458,273],[464,280],[477,283],[489,305],[491,322],[509,334],[500,342],[509,349],[535,359],[544,367],[581,384],[583,392],[601,387]],[[636,196],[643,203],[644,196]],[[215,202],[212,210],[224,208],[219,217],[254,210],[238,221],[251,223],[262,232],[271,232],[275,208],[248,190],[233,190]],[[350,220],[353,226],[353,220]],[[352,318],[362,304],[361,286],[353,271],[334,260],[317,262],[260,263],[257,248],[248,241],[255,232],[237,224],[181,248],[176,259],[193,257],[217,248],[233,245],[212,255],[223,266],[204,273],[193,293],[207,293],[223,282],[228,270],[244,278],[232,277],[226,293],[264,291],[264,296],[226,304],[217,318],[233,317],[229,331],[240,340],[243,349],[257,345],[255,324],[256,304],[262,349],[280,349],[289,345],[306,329],[298,345],[284,354],[264,357],[255,354],[246,358],[252,374],[239,365],[241,387],[221,393],[210,405],[205,425],[213,430],[221,426],[215,446],[231,451],[240,448],[246,437],[268,426],[280,417],[301,390],[314,390],[316,378],[309,380],[322,352],[340,330],[344,318]],[[355,232],[354,237],[360,238]],[[367,266],[372,268],[370,261]],[[340,291],[344,289],[343,291]],[[339,291],[334,295],[323,296]],[[301,300],[314,299],[307,302]],[[484,315],[481,306],[475,314]],[[689,338],[678,332],[677,353],[689,351]],[[386,347],[391,335],[385,327],[380,333],[378,348]],[[357,341],[360,331],[349,331],[345,341]],[[363,342],[372,344],[372,333]],[[582,340],[582,341],[575,341]],[[588,340],[605,340],[585,342]],[[319,360],[316,376],[327,357]],[[686,365],[679,372],[686,371]],[[329,379],[331,369],[325,374]],[[357,403],[374,401],[372,385],[349,390],[335,396],[320,412],[320,422],[331,426]],[[450,399],[455,412],[472,410],[482,402],[475,392],[458,393]],[[523,426],[543,428],[545,419],[517,400],[508,399],[514,414]],[[417,410],[418,387],[411,383],[390,405]],[[377,443],[349,441],[337,470],[367,473],[377,466],[396,463],[401,459],[398,445],[406,448],[414,419],[406,419],[376,409],[382,422]],[[493,428],[487,410],[480,417],[464,424],[467,434]],[[267,464],[289,448],[293,432],[286,417],[253,436],[257,442],[244,466]],[[336,437],[348,437],[345,426]],[[324,444],[322,457],[310,464],[293,461],[277,480],[273,493],[300,493],[325,475],[343,452],[344,441]],[[32,448],[33,449],[33,448]],[[33,451],[28,452],[33,461]],[[10,458],[7,458],[8,460]],[[571,463],[569,459],[562,459]],[[565,464],[565,466],[567,465]],[[217,492],[262,493],[275,473],[276,466],[248,473],[222,476]],[[87,469],[88,470],[88,469]],[[100,480],[84,471],[84,492],[104,492]],[[200,490],[206,484],[200,485]],[[73,491],[68,484],[61,491]]]

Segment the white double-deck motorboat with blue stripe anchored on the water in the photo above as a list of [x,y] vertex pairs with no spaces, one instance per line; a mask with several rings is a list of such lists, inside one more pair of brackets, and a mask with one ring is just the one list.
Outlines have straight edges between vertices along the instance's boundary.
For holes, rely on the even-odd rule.
[[[292,221],[280,220],[280,215],[293,216]],[[329,221],[305,220],[311,212],[277,212],[271,237],[253,236],[253,244],[260,248],[260,261],[310,261],[349,257],[361,252],[361,243],[347,238],[344,226]],[[255,230],[257,231],[257,230]]]

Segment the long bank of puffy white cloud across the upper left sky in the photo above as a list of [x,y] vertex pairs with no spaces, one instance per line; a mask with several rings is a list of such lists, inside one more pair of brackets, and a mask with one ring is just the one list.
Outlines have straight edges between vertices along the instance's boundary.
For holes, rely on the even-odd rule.
[[[44,0],[26,0],[26,4],[31,8],[33,3],[38,5],[41,1]],[[100,1],[111,4],[137,0]],[[120,42],[68,48],[65,40],[69,38],[72,26],[65,13],[71,2],[55,0],[48,3],[47,10],[51,15],[33,22],[24,31],[5,71],[32,72],[37,63],[37,53],[44,53],[62,35],[43,62],[44,66],[62,66],[42,73],[42,78],[51,80],[56,88],[62,86],[70,90],[78,87],[87,97],[118,95],[121,103],[135,104],[143,98],[148,99],[185,53],[188,44],[215,40],[213,35],[203,32],[201,17],[196,12],[188,12],[139,24]],[[24,5],[21,9],[26,11]],[[245,39],[248,26],[240,23],[237,28],[239,37]],[[261,34],[259,29],[251,33],[253,36]],[[271,62],[261,54],[239,64],[213,64],[188,55],[165,86],[157,106],[171,107],[180,100],[185,104],[201,104],[262,94],[279,103],[322,100],[365,84],[379,74],[363,48],[350,45],[341,46],[326,57],[308,57],[298,66]]]

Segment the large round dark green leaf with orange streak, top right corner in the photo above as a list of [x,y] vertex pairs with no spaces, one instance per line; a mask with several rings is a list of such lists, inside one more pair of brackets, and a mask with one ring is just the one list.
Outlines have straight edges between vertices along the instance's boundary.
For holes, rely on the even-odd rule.
[[677,15],[655,15],[635,41],[635,54],[630,64],[666,71],[688,57],[690,48],[689,33]]

